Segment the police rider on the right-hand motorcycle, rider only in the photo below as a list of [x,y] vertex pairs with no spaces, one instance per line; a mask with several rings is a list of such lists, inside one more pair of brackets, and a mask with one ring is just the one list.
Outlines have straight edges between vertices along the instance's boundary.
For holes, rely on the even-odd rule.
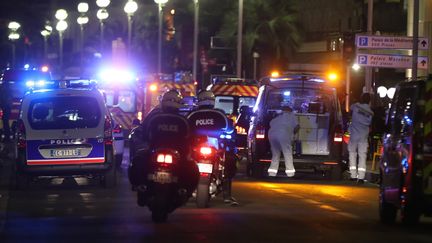
[[[212,91],[204,90],[197,95],[197,108],[188,115],[189,124],[194,135],[219,134],[222,131],[233,131],[232,120],[228,119],[222,110],[214,108],[215,95]],[[232,206],[238,205],[237,200],[232,197],[232,178],[237,171],[237,156],[233,140],[225,140],[225,161],[223,181],[223,199],[225,203]]]

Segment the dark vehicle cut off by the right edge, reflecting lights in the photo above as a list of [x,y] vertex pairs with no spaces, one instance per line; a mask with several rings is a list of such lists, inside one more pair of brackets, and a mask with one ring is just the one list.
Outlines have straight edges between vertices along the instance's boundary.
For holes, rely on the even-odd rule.
[[400,83],[391,102],[380,161],[379,215],[415,224],[432,217],[432,79]]

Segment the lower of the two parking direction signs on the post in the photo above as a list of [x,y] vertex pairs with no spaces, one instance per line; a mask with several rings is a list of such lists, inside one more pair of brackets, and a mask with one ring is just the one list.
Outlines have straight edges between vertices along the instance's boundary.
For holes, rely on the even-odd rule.
[[[365,67],[412,68],[412,57],[404,55],[357,54],[357,63]],[[417,68],[427,69],[428,58],[418,57]]]

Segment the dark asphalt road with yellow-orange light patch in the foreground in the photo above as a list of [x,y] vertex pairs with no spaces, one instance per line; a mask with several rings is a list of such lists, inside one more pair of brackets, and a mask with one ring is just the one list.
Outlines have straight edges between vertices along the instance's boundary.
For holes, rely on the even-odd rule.
[[300,175],[234,183],[240,202],[214,198],[208,209],[193,200],[164,224],[136,205],[125,168],[115,189],[86,178],[40,180],[9,190],[3,161],[0,242],[432,242],[432,220],[414,228],[378,221],[377,186]]

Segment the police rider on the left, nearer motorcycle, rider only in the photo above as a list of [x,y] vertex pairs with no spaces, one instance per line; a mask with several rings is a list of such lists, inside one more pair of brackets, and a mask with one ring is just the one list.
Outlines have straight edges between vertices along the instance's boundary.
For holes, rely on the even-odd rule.
[[[159,106],[146,116],[130,135],[129,181],[133,190],[145,184],[151,163],[152,148],[173,148],[179,151],[179,185],[188,198],[196,189],[199,171],[196,163],[189,159],[189,125],[184,116],[178,114],[182,96],[177,90],[163,94]],[[179,139],[184,137],[185,139]],[[145,206],[145,194],[138,193],[138,205]]]

